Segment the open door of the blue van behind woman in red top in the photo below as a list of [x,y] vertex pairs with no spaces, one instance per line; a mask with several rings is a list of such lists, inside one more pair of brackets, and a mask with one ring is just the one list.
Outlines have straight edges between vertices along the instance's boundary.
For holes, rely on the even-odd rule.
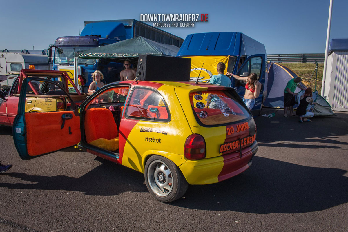
[[[240,69],[237,71],[236,75],[238,76],[243,76],[244,72],[248,73],[256,73],[258,75],[258,81],[261,82],[262,87],[260,90],[260,95],[255,99],[255,105],[252,109],[253,115],[256,112],[261,112],[262,109],[262,102],[263,102],[263,95],[264,95],[264,87],[267,85],[267,72],[266,72],[266,67],[267,67],[267,60],[266,60],[266,55],[265,54],[255,54],[249,56],[245,62],[242,64]],[[245,94],[245,82],[243,81],[238,81],[234,79],[235,81],[235,89],[240,97],[243,97]],[[266,90],[266,89],[265,89]]]

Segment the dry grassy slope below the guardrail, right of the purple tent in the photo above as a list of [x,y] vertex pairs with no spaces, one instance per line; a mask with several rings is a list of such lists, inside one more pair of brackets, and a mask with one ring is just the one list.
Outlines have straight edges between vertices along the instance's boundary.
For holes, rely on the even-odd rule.
[[313,91],[318,91],[319,94],[321,93],[324,63],[282,62],[281,64],[297,73],[304,81],[307,81],[309,83],[308,87],[311,87]]

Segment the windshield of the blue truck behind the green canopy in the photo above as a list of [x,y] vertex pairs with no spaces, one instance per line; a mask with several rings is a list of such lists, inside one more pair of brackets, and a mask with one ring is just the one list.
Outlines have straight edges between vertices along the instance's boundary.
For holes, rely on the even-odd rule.
[[[74,64],[74,52],[83,51],[92,47],[80,46],[80,47],[60,47],[61,53],[58,53],[58,49],[54,51],[55,64]],[[96,59],[80,59],[79,64],[95,64]]]

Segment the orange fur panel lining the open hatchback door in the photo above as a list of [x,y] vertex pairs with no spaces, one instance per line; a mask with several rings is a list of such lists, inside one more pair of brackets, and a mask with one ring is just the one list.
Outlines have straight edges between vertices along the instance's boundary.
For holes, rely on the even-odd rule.
[[[62,115],[72,114],[64,121]],[[72,111],[25,113],[26,146],[30,156],[57,151],[81,140],[80,117]]]

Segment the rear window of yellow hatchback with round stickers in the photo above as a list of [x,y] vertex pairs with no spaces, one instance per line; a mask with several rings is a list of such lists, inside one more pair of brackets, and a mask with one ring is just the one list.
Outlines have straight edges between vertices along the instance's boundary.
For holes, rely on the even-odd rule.
[[220,125],[249,119],[250,113],[226,90],[190,93],[190,102],[198,122]]

